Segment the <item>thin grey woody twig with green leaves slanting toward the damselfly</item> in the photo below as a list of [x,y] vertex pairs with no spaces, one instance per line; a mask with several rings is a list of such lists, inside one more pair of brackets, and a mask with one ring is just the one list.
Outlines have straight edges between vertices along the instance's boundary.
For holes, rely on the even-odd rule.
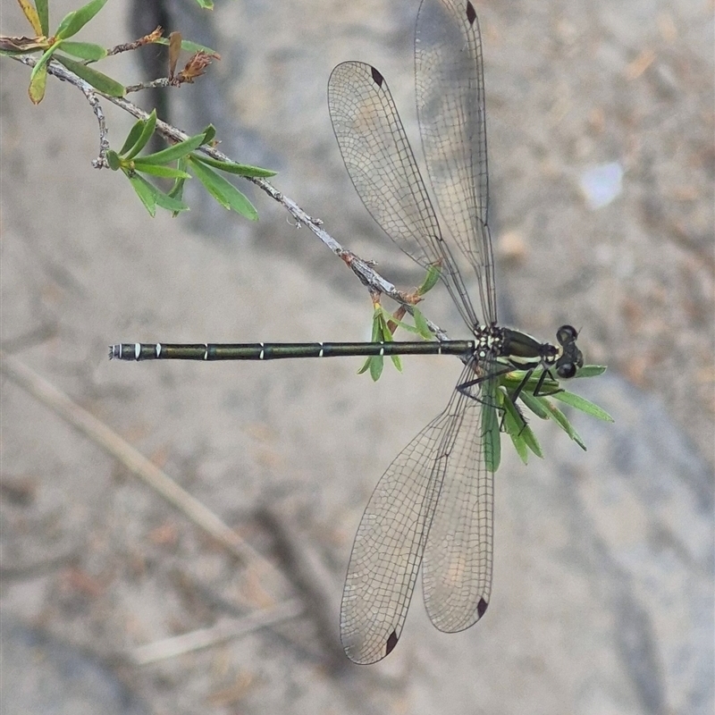
[[[29,55],[13,56],[13,59],[23,64],[26,64],[29,67],[34,67],[37,63],[37,60]],[[55,62],[54,60],[47,63],[47,71],[57,77],[59,80],[70,82],[77,87],[80,87],[80,84],[87,85],[84,80],[81,80],[76,74],[69,71],[62,64]],[[89,87],[89,85],[87,86]],[[84,89],[82,89],[82,91],[84,91]],[[137,119],[146,121],[149,117],[149,114],[147,112],[139,108],[139,106],[132,104],[130,101],[124,99],[123,97],[109,97],[94,88],[90,88],[90,91],[100,95],[101,97],[105,97],[107,101],[112,102],[112,104],[120,107],[132,116],[137,117]],[[177,129],[171,124],[163,122],[160,119],[156,120],[156,130],[165,139],[171,139],[175,142],[189,139],[189,134]],[[199,150],[207,156],[211,156],[212,158],[217,159],[218,161],[231,163],[233,161],[229,156],[226,156],[225,154],[223,154],[223,152],[219,151],[215,147],[203,146],[199,147]],[[265,179],[250,176],[244,178],[247,181],[251,181],[252,183],[256,184],[259,189],[265,191],[265,193],[268,194],[269,197],[273,198],[274,201],[277,201],[279,204],[281,204],[281,206],[283,206],[290,213],[290,215],[293,216],[296,222],[298,222],[299,224],[307,225],[310,231],[313,231],[315,236],[317,236],[317,238],[321,240],[327,248],[330,248],[332,253],[340,257],[345,262],[345,264],[349,266],[350,270],[357,275],[357,278],[360,279],[360,282],[366,285],[368,289],[378,290],[379,292],[394,300],[396,303],[399,303],[401,306],[404,306],[408,310],[408,312],[412,314],[412,306],[415,303],[414,297],[412,297],[411,294],[404,293],[401,290],[398,290],[391,282],[384,279],[380,273],[374,270],[374,266],[371,265],[369,261],[358,257],[356,254],[352,253],[346,248],[342,248],[341,244],[337,240],[333,239],[327,231],[324,231],[324,229],[321,227],[323,222],[320,219],[316,219],[308,215],[305,211],[303,211],[302,208],[300,208],[300,206],[298,206],[298,204],[296,204],[295,201],[285,196],[278,189],[275,189],[275,187],[273,187],[273,185],[268,181],[265,181]],[[438,340],[449,340],[449,335],[444,332],[439,325],[434,324],[428,319],[426,319],[426,322],[430,330],[434,333]]]

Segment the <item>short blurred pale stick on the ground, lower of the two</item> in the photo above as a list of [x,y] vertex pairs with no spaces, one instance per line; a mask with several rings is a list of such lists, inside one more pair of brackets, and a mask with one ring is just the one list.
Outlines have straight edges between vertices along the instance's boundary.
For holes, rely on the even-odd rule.
[[231,618],[219,621],[214,627],[199,628],[172,638],[164,638],[147,645],[140,645],[127,653],[133,665],[148,665],[159,660],[167,660],[198,651],[202,648],[225,643],[257,631],[259,628],[273,626],[290,618],[296,618],[304,610],[298,600],[283,601],[270,609],[257,610],[244,618]]

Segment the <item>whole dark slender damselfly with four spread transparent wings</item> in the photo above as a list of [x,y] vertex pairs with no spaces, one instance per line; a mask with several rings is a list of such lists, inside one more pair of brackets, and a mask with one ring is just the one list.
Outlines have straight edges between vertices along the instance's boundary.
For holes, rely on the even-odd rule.
[[[442,266],[442,281],[472,340],[120,343],[110,348],[110,357],[122,360],[461,357],[464,367],[447,408],[388,467],[357,528],[341,605],[342,644],[357,663],[380,660],[397,644],[420,565],[425,606],[435,627],[453,633],[484,615],[492,588],[495,467],[490,452],[495,446],[489,435],[501,376],[526,371],[509,395],[516,405],[521,391],[543,394],[544,380],[558,388],[559,378],[573,377],[583,366],[571,326],[561,326],[551,344],[497,323],[482,45],[469,0],[422,0],[415,75],[427,175],[442,222],[387,83],[374,67],[347,62],[332,71],[332,126],[368,212],[417,264]],[[467,277],[478,285],[481,321],[467,295]]]

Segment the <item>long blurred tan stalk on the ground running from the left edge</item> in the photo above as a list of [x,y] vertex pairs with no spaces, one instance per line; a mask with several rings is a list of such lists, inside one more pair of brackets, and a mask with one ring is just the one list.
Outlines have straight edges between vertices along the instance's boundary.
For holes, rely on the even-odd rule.
[[196,526],[223,544],[228,551],[246,565],[258,568],[259,573],[266,571],[275,573],[280,578],[280,583],[285,583],[285,576],[273,568],[273,565],[248,543],[244,542],[239,534],[226,526],[211,509],[191,496],[189,492],[181,489],[179,484],[165,475],[153,462],[135,450],[128,442],[124,442],[117,433],[100,422],[97,417],[90,415],[87,410],[72,402],[53,384],[34,373],[17,358],[7,355],[1,350],[0,370],[13,382],[79,429],[80,432],[86,434],[109,455],[122,462],[133,475],[138,476],[142,482],[164,497],[165,501],[179,509]]

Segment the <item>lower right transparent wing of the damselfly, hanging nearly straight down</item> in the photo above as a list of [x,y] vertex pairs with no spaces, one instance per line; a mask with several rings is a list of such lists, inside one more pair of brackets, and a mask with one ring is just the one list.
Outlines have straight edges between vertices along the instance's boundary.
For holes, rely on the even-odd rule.
[[482,618],[492,592],[494,475],[486,468],[492,447],[483,418],[484,404],[495,404],[495,389],[494,380],[485,380],[469,390],[425,545],[425,607],[446,633]]

